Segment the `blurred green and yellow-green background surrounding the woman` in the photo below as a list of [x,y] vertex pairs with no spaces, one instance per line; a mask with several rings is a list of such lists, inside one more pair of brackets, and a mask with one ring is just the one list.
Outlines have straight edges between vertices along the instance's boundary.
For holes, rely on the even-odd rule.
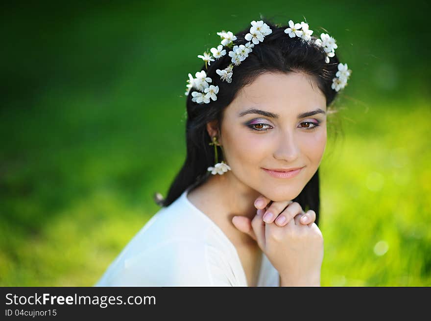
[[183,163],[197,55],[263,15],[324,27],[353,70],[321,163],[322,286],[430,286],[429,12],[426,1],[3,5],[0,285],[98,280]]

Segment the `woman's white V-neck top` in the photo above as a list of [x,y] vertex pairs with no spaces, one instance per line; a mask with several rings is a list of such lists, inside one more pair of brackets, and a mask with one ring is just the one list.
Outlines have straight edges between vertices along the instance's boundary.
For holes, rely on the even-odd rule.
[[[95,286],[247,286],[235,246],[189,201],[190,188],[151,217]],[[262,254],[257,286],[279,286]]]

